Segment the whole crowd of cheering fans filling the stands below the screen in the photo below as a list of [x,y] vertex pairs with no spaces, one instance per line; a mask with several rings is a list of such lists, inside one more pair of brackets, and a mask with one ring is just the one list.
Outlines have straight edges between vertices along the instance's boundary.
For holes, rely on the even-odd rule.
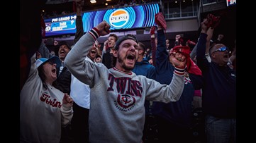
[[[230,51],[222,33],[212,39],[218,18],[201,21],[197,42],[176,35],[169,47],[157,13],[145,47],[106,21],[84,34],[84,1],[75,2],[73,46],[48,48],[42,35],[30,47],[21,35],[20,142],[236,142],[236,46]],[[199,124],[195,110],[204,113]],[[197,138],[196,125],[205,131]]]

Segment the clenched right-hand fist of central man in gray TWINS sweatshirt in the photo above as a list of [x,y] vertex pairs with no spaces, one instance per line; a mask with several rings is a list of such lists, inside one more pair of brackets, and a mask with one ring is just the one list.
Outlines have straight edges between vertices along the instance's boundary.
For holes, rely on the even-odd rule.
[[185,68],[187,63],[187,58],[183,54],[173,51],[172,54],[170,54],[172,58],[172,63],[177,68]]

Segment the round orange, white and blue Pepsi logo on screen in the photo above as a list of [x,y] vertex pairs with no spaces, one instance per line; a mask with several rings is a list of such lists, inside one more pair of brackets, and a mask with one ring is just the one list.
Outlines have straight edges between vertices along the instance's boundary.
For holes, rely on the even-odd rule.
[[130,18],[130,15],[128,11],[126,11],[123,8],[120,8],[116,11],[113,11],[111,15],[109,16],[109,23],[113,27],[123,27],[128,23],[128,20]]

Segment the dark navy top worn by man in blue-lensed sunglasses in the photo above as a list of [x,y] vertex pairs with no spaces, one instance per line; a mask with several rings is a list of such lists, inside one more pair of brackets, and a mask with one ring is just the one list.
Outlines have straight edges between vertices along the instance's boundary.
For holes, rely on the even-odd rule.
[[207,35],[201,33],[197,45],[196,62],[204,76],[202,106],[206,114],[218,118],[236,117],[236,77],[235,71],[218,66],[205,57]]

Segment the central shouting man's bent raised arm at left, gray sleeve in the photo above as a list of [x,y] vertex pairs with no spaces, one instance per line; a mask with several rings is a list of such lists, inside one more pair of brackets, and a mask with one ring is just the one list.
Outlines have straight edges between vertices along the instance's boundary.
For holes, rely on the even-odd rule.
[[95,69],[91,62],[85,60],[85,58],[87,57],[87,54],[91,49],[91,45],[94,44],[95,40],[99,36],[107,35],[110,32],[109,28],[110,25],[108,25],[106,21],[99,23],[99,25],[94,27],[78,40],[77,44],[74,45],[65,58],[64,63],[70,73],[87,85],[91,85],[91,82],[93,82],[90,77],[93,77]]

